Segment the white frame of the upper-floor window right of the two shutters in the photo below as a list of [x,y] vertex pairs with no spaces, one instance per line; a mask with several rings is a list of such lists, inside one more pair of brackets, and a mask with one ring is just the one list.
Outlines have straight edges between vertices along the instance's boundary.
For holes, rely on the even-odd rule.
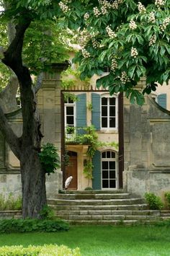
[[[107,98],[107,127],[102,127],[102,98]],[[115,127],[109,127],[109,99],[115,98]],[[110,96],[109,94],[102,94],[100,97],[100,127],[104,131],[116,131],[118,129],[118,97],[117,95]]]

